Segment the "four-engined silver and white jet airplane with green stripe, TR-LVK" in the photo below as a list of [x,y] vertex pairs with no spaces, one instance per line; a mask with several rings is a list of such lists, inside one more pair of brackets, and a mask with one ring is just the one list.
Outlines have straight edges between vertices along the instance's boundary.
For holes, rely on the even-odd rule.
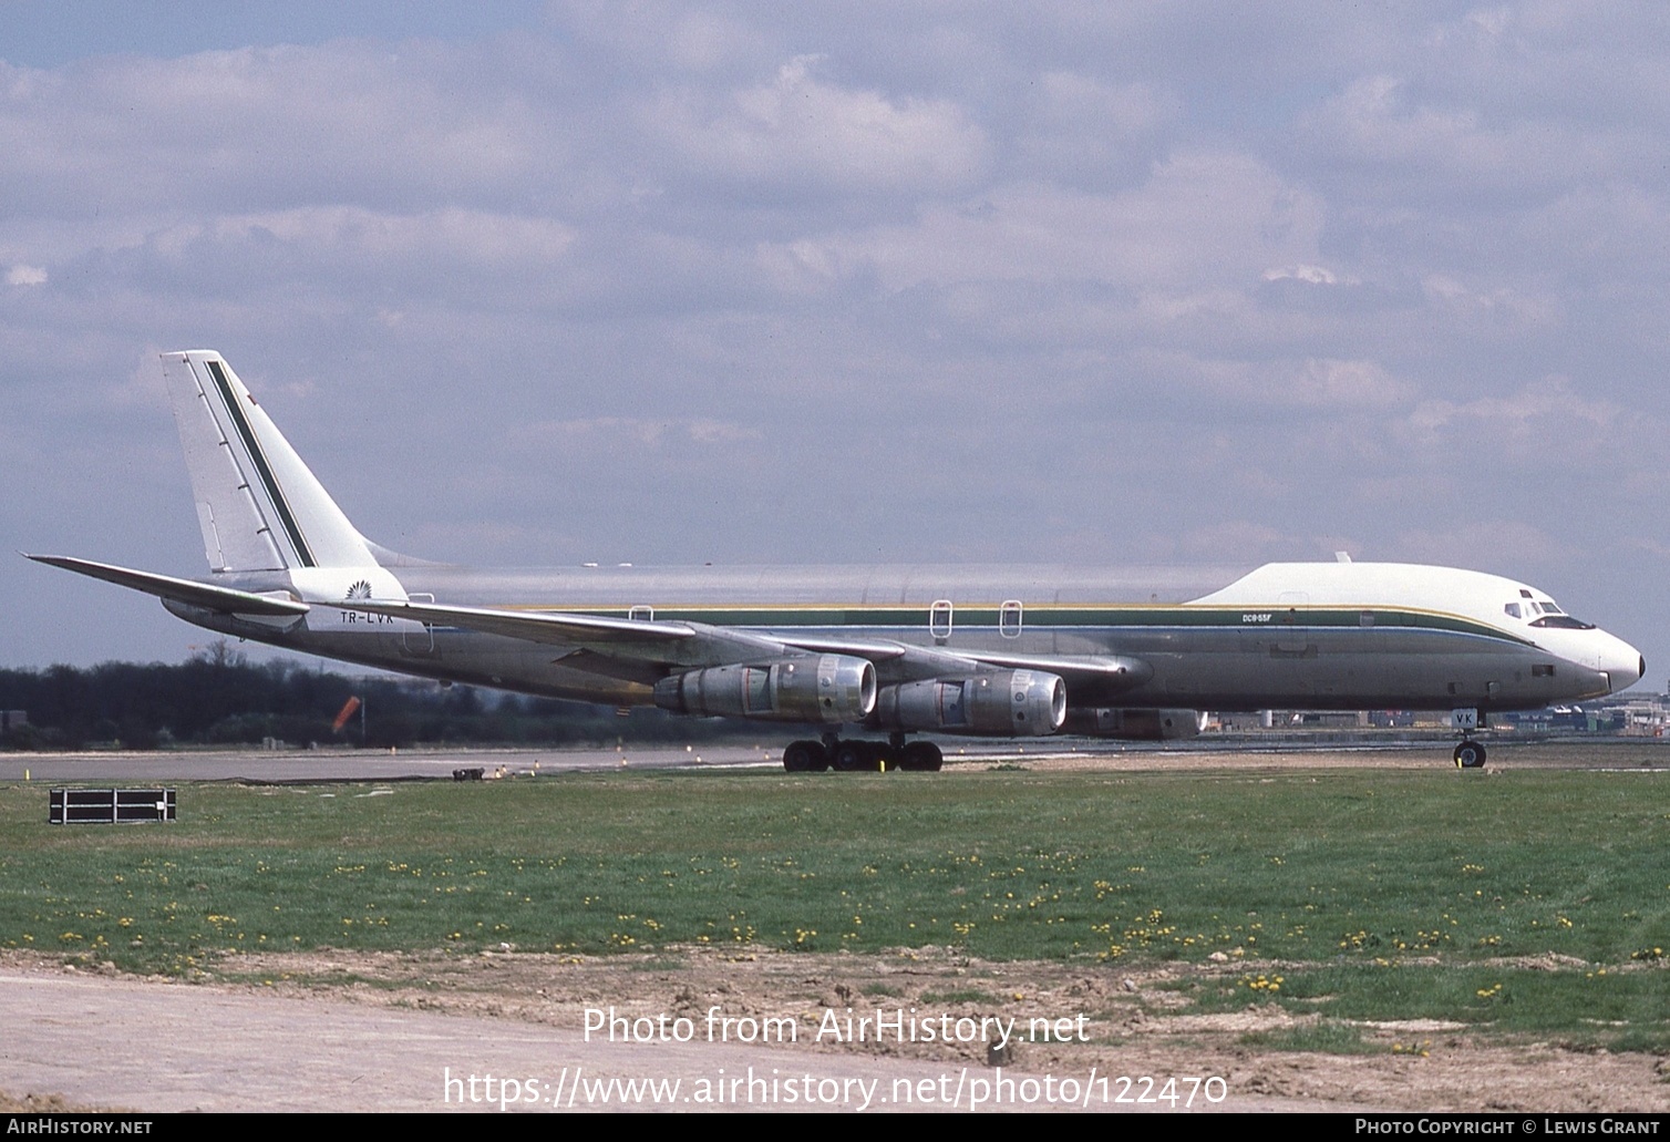
[[[1194,736],[1197,711],[1481,715],[1630,686],[1628,643],[1525,583],[1399,563],[1212,569],[630,564],[484,571],[366,539],[214,351],[162,354],[210,574],[38,563],[222,634],[406,675],[810,726],[783,768],[939,770],[908,735]],[[885,740],[845,736],[885,735]]]

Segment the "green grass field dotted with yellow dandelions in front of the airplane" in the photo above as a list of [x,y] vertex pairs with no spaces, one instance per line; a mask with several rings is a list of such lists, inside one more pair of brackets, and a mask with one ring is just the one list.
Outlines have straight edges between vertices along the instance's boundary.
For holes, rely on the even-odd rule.
[[[1670,1049],[1663,773],[606,773],[180,788],[170,826],[0,790],[0,947],[670,945],[1184,960],[1191,1010]],[[1214,955],[1219,953],[1219,955]]]

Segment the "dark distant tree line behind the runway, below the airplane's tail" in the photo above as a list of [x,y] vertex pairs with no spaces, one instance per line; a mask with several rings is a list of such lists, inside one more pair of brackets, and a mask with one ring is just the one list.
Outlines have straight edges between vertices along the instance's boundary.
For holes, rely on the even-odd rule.
[[[351,696],[364,703],[341,733],[331,728]],[[294,661],[252,664],[227,643],[179,664],[104,663],[87,670],[0,670],[0,710],[28,721],[0,733],[0,750],[84,750],[120,745],[402,746],[691,743],[758,736],[750,723],[675,718],[661,710],[615,710],[443,688],[406,678],[352,678]]]

